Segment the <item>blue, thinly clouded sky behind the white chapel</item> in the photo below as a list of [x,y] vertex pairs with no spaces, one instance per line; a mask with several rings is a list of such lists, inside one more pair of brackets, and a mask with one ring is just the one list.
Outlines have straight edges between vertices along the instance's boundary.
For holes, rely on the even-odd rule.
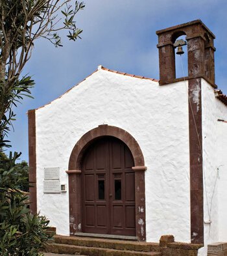
[[34,100],[27,98],[18,106],[15,131],[9,137],[11,150],[23,153],[21,160],[28,160],[27,110],[54,100],[99,64],[159,79],[159,29],[202,20],[216,36],[216,83],[227,94],[226,0],[87,0],[85,4],[77,16],[77,25],[84,30],[82,40],[69,42],[63,38],[62,48],[54,48],[43,39],[36,41],[24,70],[36,81]]

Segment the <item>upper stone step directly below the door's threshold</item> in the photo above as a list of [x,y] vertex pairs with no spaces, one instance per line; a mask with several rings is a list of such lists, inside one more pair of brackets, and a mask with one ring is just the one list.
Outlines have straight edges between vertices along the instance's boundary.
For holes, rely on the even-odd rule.
[[84,246],[93,248],[118,249],[129,251],[155,251],[160,252],[159,243],[137,242],[130,240],[115,240],[104,238],[90,238],[81,236],[54,236],[56,244],[69,244],[72,246]]

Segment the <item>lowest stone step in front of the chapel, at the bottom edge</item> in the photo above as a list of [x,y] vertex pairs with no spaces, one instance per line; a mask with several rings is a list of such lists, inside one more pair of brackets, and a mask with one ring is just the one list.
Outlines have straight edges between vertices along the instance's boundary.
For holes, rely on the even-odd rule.
[[161,256],[160,252],[155,251],[130,251],[123,249],[109,249],[86,246],[73,246],[69,244],[47,244],[45,251],[48,253],[89,255],[89,256]]

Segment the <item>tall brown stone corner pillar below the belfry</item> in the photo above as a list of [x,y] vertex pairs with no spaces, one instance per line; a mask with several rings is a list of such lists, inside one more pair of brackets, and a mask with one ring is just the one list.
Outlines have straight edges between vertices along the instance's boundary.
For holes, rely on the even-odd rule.
[[204,243],[201,78],[189,79],[191,243]]

